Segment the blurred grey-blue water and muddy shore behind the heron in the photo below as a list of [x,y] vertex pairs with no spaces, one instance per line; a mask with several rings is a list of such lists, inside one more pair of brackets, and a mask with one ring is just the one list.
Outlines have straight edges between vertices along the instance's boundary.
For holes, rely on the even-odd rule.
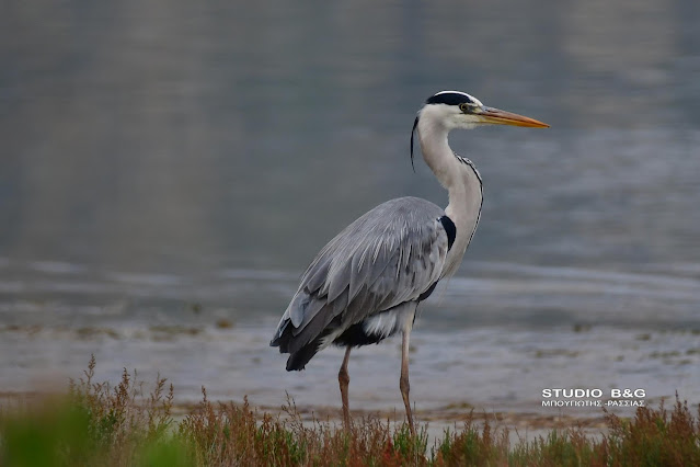
[[[4,4],[0,391],[94,353],[183,398],[340,403],[340,351],[287,374],[268,340],[343,227],[447,204],[409,137],[455,89],[551,128],[451,136],[485,200],[416,322],[418,408],[698,402],[698,24],[696,0]],[[354,353],[355,407],[402,407],[398,345]]]

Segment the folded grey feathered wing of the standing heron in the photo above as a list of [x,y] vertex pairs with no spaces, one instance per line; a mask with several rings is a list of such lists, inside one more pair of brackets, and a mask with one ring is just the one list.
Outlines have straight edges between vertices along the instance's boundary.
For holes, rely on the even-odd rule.
[[448,250],[439,221],[444,215],[425,200],[402,197],[351,224],[307,269],[271,344],[295,352],[328,331],[331,321],[347,328],[417,300],[443,271]]

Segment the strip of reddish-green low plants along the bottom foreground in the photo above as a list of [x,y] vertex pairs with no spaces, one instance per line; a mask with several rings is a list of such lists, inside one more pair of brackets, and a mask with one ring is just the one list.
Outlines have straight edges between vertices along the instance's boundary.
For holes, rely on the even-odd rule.
[[633,419],[605,413],[597,436],[579,428],[512,445],[506,428],[472,418],[428,445],[427,429],[355,419],[349,431],[302,423],[294,401],[279,415],[203,400],[172,414],[173,388],[158,377],[148,395],[124,371],[116,386],[93,381],[95,361],[67,395],[0,409],[2,466],[685,466],[700,465],[700,412],[676,397]]

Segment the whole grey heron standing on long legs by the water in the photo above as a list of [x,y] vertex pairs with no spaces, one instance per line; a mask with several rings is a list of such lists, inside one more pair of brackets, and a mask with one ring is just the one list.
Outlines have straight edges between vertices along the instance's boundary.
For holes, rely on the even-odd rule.
[[351,350],[401,331],[399,387],[415,433],[409,401],[409,339],[416,307],[461,263],[482,206],[481,175],[473,162],[450,149],[447,137],[451,129],[480,125],[549,126],[487,107],[464,92],[441,91],[428,98],[411,132],[411,162],[417,132],[423,158],[448,191],[449,204],[443,209],[425,200],[401,197],[347,226],[303,273],[269,343],[290,354],[287,371],[303,369],[330,344],[346,348],[337,375],[346,428]]

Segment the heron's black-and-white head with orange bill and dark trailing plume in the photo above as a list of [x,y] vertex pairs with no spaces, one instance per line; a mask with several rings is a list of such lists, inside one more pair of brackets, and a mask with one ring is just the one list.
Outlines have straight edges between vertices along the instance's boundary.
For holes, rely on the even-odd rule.
[[535,118],[487,107],[473,95],[460,91],[440,91],[431,95],[418,112],[411,132],[411,162],[413,163],[413,134],[418,122],[429,123],[446,130],[474,128],[481,125],[512,125],[530,128],[548,128],[549,125]]

